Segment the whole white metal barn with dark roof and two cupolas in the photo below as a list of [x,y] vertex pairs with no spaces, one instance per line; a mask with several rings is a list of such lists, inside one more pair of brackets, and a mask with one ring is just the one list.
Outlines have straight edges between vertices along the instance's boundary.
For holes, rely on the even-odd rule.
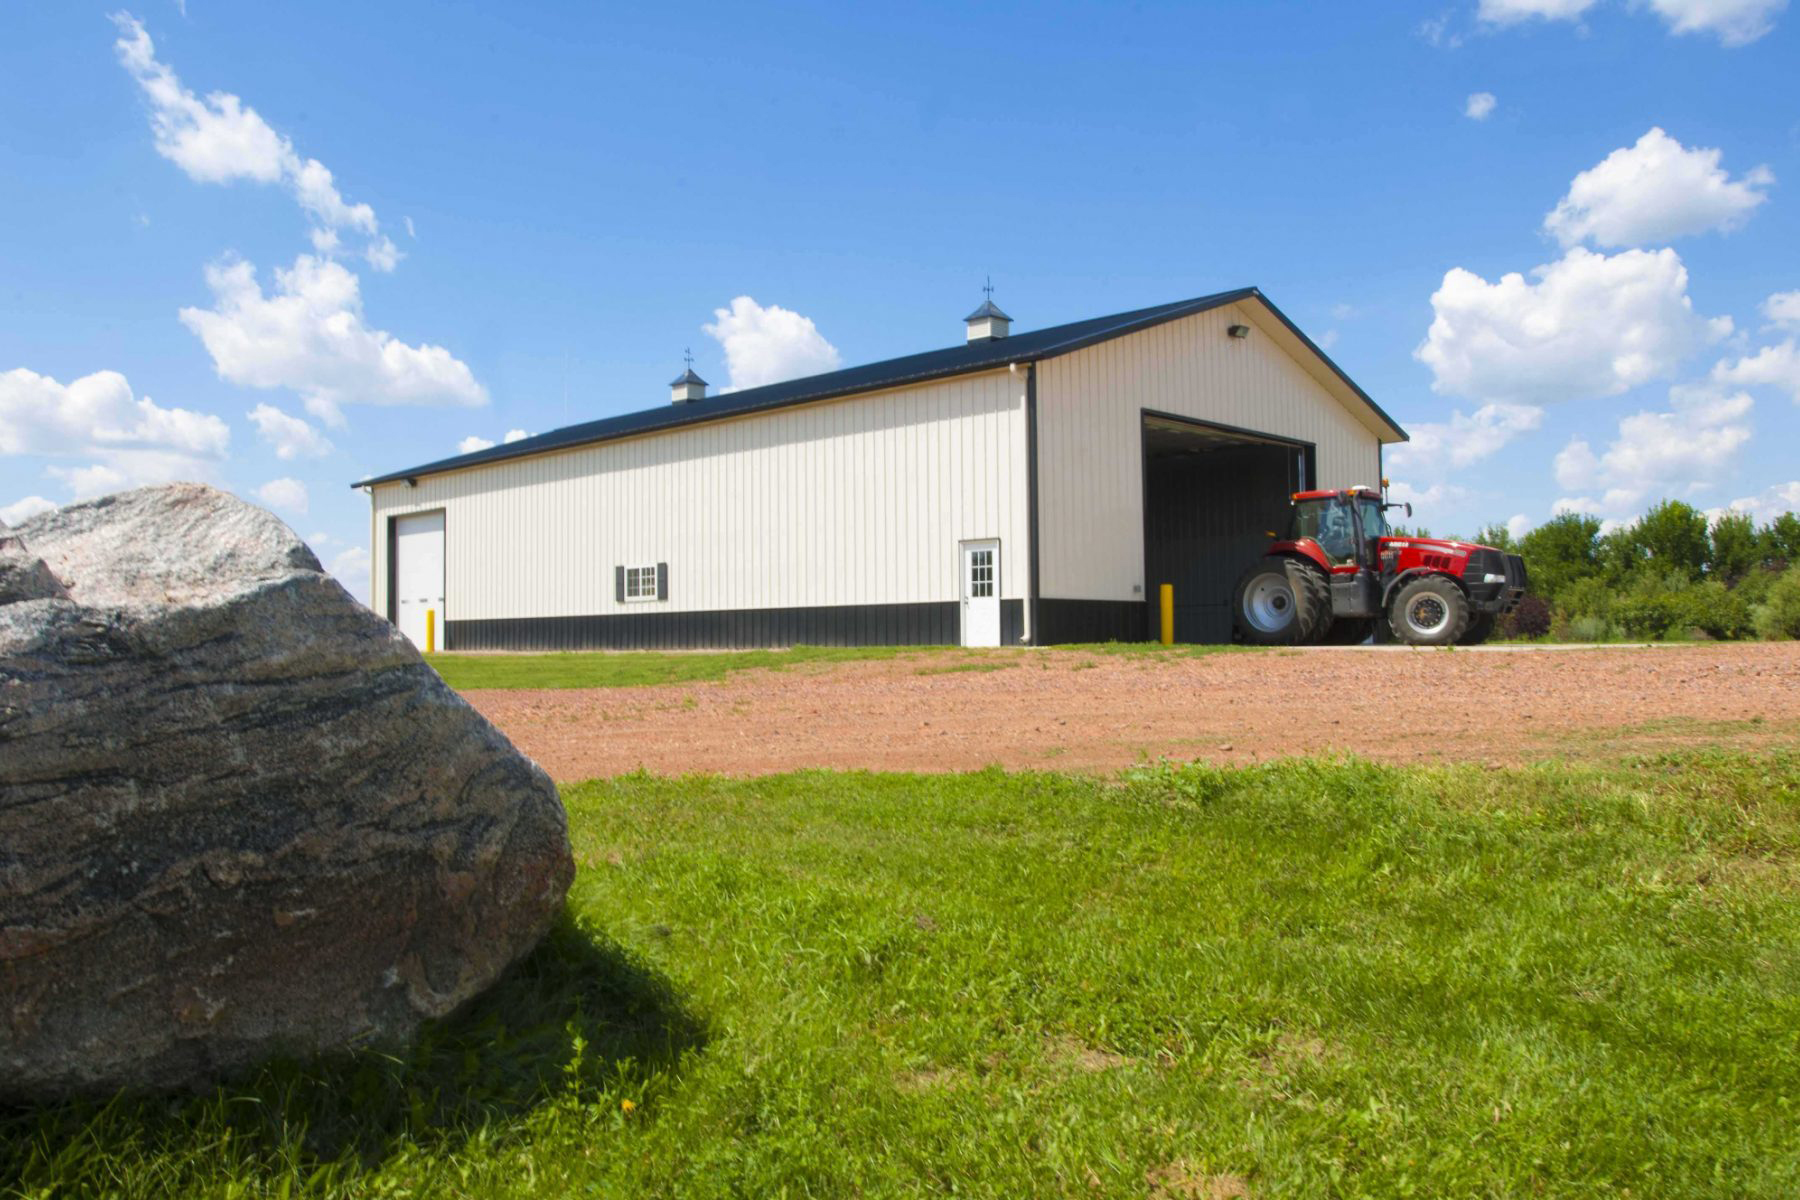
[[[673,403],[360,480],[443,649],[1228,640],[1303,488],[1406,434],[1258,290]],[[430,613],[430,617],[427,617]]]

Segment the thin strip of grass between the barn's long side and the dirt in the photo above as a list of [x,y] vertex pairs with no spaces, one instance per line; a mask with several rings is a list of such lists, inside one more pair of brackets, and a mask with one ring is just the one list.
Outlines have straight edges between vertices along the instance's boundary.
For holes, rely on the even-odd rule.
[[457,691],[481,687],[653,687],[722,680],[733,671],[779,671],[828,662],[918,658],[920,675],[1001,671],[1049,655],[1125,655],[1139,658],[1199,658],[1224,651],[1260,651],[1246,646],[1159,646],[1156,642],[1100,642],[1049,649],[963,649],[961,646],[792,646],[788,649],[724,649],[661,653],[571,651],[556,655],[430,655],[446,684]]

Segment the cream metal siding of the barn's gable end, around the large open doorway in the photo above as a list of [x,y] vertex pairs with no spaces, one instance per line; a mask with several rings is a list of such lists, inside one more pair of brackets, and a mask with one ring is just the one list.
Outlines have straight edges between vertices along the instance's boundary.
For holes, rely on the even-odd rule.
[[1145,408],[1314,443],[1319,488],[1381,482],[1377,434],[1278,340],[1298,345],[1233,304],[1039,365],[1042,596],[1143,599]]

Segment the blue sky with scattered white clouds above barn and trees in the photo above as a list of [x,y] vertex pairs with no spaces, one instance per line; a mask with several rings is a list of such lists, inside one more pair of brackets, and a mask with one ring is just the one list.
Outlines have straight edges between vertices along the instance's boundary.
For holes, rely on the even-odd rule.
[[[1800,507],[1800,13],[14,4],[0,515],[1264,288],[1438,531]],[[1481,97],[1489,99],[1481,99]],[[1516,279],[1512,275],[1517,275]],[[722,315],[720,315],[722,313]]]

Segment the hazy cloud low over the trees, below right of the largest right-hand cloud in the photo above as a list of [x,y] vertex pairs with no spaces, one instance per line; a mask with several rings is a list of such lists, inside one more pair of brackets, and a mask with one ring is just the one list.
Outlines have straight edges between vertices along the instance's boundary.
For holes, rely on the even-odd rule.
[[1744,392],[1676,387],[1665,412],[1622,417],[1604,452],[1571,439],[1555,457],[1557,486],[1598,491],[1557,502],[1557,511],[1624,516],[1658,497],[1690,497],[1715,484],[1750,441]]

